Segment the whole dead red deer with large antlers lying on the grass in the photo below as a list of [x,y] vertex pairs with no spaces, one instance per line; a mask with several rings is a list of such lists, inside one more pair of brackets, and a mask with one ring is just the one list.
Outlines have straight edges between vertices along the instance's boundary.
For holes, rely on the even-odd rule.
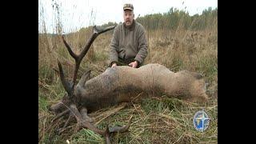
[[78,84],[75,85],[82,58],[86,55],[94,39],[99,34],[113,29],[114,26],[110,26],[104,30],[98,30],[94,26],[94,34],[87,41],[81,54],[78,55],[74,54],[64,36],[62,36],[67,50],[75,59],[74,75],[73,81],[67,82],[64,78],[62,65],[58,62],[60,78],[67,94],[62,98],[62,102],[51,106],[50,110],[58,114],[56,118],[70,114],[64,127],[70,122],[71,117],[75,117],[78,126],[86,127],[95,133],[101,134],[106,138],[106,143],[110,143],[110,133],[128,130],[131,118],[126,126],[113,128],[106,126],[106,130],[99,130],[91,123],[92,120],[87,115],[88,110],[93,111],[120,102],[130,102],[141,92],[156,95],[166,94],[187,101],[207,100],[206,85],[200,74],[186,70],[174,73],[159,64],[147,64],[138,69],[129,66],[109,67],[105,72],[91,79],[89,70],[82,75]]

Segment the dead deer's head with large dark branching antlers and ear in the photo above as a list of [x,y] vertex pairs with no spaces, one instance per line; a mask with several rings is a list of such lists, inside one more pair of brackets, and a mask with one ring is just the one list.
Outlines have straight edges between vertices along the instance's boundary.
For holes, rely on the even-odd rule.
[[[98,37],[99,34],[102,34],[108,30],[113,30],[114,27],[115,26],[109,26],[103,30],[98,30],[97,27],[94,26],[93,34],[91,35],[89,40],[86,42],[86,46],[83,48],[83,50],[80,54],[74,54],[74,52],[71,50],[69,44],[66,42],[64,35],[62,35],[62,40],[63,40],[69,54],[75,60],[75,66],[74,66],[72,81],[69,82],[69,81],[66,81],[63,70],[62,70],[62,64],[61,64],[61,62],[58,61],[59,75],[60,75],[60,79],[62,81],[62,86],[66,90],[66,94],[62,98],[62,102],[59,102],[58,104],[50,107],[50,111],[54,111],[55,113],[58,113],[58,115],[54,118],[54,120],[66,115],[66,114],[70,114],[68,120],[66,121],[64,127],[62,128],[62,130],[60,130],[60,132],[65,130],[64,128],[70,122],[70,118],[72,118],[72,117],[76,118],[79,127],[86,127],[90,130],[93,130],[95,133],[101,134],[103,137],[105,137],[106,143],[110,143],[110,133],[118,132],[118,131],[126,131],[129,129],[130,121],[128,122],[128,125],[126,125],[126,126],[122,126],[122,127],[116,126],[116,127],[110,128],[110,129],[108,126],[106,126],[106,130],[99,130],[96,126],[91,124],[92,120],[87,115],[87,109],[86,109],[86,107],[82,107],[82,105],[80,105],[81,100],[79,99],[78,96],[76,96],[75,90],[74,90],[75,86],[76,86],[76,79],[78,77],[78,69],[79,69],[80,63],[82,62],[82,58],[85,57],[91,44],[94,42],[95,38]],[[89,78],[90,78],[90,70],[88,70],[85,74],[82,75],[82,78],[79,80],[77,86],[82,86],[82,84],[84,84]],[[130,118],[130,120],[131,120],[131,118]]]

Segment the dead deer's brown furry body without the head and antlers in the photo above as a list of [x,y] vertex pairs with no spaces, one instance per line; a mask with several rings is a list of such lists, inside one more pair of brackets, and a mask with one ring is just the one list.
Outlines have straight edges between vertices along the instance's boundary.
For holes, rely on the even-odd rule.
[[165,66],[148,64],[138,69],[129,66],[108,68],[84,85],[77,85],[75,94],[88,110],[98,110],[120,102],[130,102],[139,93],[206,100],[205,82],[199,74],[186,70],[174,73]]

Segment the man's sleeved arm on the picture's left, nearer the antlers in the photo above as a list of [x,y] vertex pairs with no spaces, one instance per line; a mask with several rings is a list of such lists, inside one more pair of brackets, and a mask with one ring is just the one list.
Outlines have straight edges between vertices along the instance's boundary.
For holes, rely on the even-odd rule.
[[110,42],[110,66],[112,66],[114,62],[118,62],[119,27],[120,26],[116,26],[114,28],[113,38]]

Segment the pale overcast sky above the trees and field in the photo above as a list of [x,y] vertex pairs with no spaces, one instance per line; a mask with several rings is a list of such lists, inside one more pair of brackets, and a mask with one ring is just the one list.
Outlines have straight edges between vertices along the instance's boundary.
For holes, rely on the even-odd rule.
[[53,6],[59,6],[59,18],[65,33],[82,27],[107,22],[123,22],[122,6],[134,5],[135,18],[145,14],[166,13],[171,7],[186,10],[190,15],[202,14],[202,10],[218,7],[218,0],[38,0],[38,32],[42,32],[42,22],[48,33],[53,33],[58,22]]

